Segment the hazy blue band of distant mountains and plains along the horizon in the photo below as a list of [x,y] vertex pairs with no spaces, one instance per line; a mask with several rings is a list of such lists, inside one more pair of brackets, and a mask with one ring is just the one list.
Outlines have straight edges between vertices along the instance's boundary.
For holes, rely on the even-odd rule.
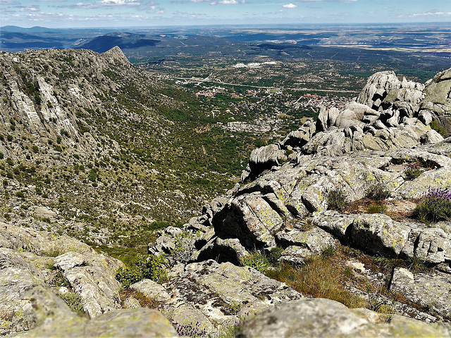
[[[364,32],[364,33],[363,33]],[[127,50],[164,46],[226,46],[230,44],[298,44],[380,49],[428,49],[447,54],[451,28],[443,23],[418,25],[273,25],[142,28],[0,27],[0,50],[85,48],[99,53],[120,46]],[[192,40],[194,39],[194,40]],[[420,50],[421,51],[421,50]]]

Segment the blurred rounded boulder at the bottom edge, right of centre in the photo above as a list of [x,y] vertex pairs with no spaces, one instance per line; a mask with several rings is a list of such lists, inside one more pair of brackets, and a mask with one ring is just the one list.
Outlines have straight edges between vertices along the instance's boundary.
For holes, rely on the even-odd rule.
[[399,315],[349,309],[329,299],[300,299],[258,314],[240,337],[450,337],[445,327]]

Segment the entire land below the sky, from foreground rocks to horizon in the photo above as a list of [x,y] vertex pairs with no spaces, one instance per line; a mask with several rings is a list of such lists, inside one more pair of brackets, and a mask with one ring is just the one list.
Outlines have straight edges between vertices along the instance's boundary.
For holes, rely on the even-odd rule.
[[450,335],[447,27],[19,28],[0,334]]

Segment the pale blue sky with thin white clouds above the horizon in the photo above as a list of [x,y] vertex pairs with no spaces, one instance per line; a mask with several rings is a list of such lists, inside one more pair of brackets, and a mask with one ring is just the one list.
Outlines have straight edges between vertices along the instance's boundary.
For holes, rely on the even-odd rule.
[[451,0],[0,0],[0,26],[451,23]]

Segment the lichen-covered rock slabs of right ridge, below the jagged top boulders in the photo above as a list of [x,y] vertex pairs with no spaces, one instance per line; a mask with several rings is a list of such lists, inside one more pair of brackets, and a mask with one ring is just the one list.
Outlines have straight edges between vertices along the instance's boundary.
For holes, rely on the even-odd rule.
[[[383,187],[392,199],[410,199],[421,197],[431,187],[443,189],[451,182],[451,160],[434,154],[433,149],[447,153],[450,147],[448,142],[442,142],[416,149],[335,157],[298,154],[278,170],[262,173],[253,182],[243,184],[235,194],[223,199],[222,207],[214,211],[204,208],[204,215],[194,218],[202,220],[202,227],[186,225],[185,231],[195,245],[187,261],[216,258],[238,263],[246,250],[271,249],[276,245],[285,249],[298,246],[304,249],[304,256],[309,256],[332,245],[329,237],[333,236],[369,253],[421,256],[428,263],[449,263],[450,235],[443,230],[398,223],[387,215],[327,211],[327,196],[330,191],[341,189],[345,199],[352,202],[364,198],[374,187]],[[404,171],[413,162],[424,163],[428,168],[410,180]],[[326,233],[302,231],[310,219]],[[214,226],[214,231],[205,227],[208,224]],[[165,236],[157,239],[156,246],[149,246],[151,253],[171,253],[162,249],[161,242],[171,243],[175,236]]]

